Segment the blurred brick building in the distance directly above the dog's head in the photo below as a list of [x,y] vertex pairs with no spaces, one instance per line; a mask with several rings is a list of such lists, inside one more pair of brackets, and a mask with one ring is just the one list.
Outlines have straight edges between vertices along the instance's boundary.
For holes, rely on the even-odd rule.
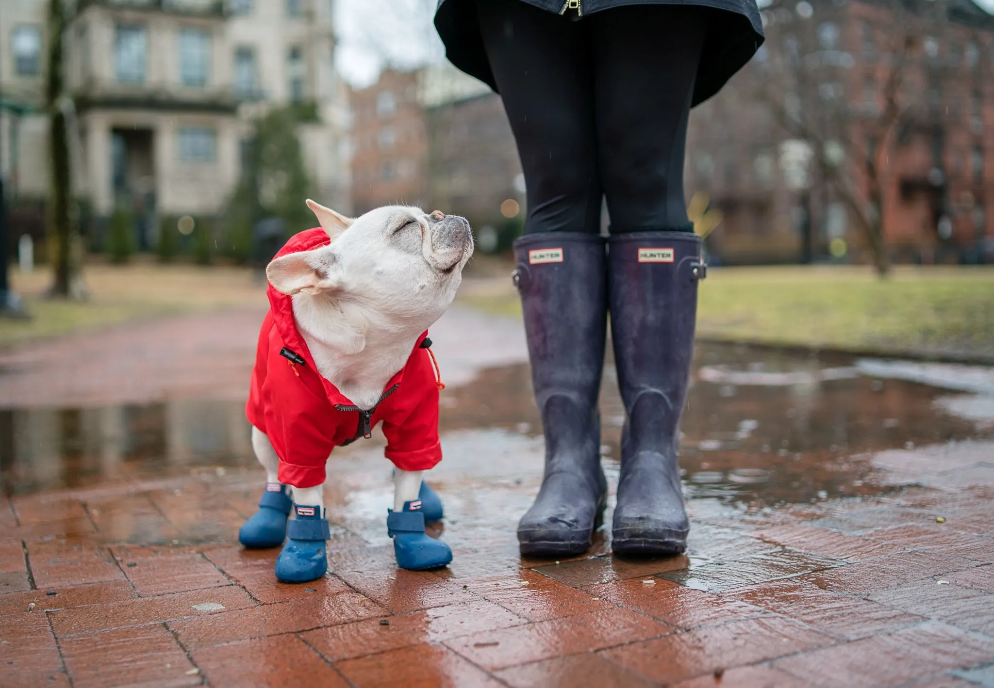
[[500,96],[451,66],[386,70],[351,95],[356,211],[390,203],[465,215],[483,250],[524,218],[524,177]]

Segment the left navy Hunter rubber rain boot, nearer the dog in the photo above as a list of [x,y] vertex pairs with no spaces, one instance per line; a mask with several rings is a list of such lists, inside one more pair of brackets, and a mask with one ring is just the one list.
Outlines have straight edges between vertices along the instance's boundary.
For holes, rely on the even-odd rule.
[[597,410],[607,318],[604,239],[526,234],[514,242],[514,254],[546,439],[542,488],[518,524],[518,542],[525,555],[581,554],[600,525],[607,492]]

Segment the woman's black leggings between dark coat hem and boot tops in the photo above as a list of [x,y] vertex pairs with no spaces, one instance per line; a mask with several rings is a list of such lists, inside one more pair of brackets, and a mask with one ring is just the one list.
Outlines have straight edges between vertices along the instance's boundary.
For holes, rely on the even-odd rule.
[[525,172],[525,231],[690,230],[684,148],[710,10],[629,5],[579,21],[477,0]]

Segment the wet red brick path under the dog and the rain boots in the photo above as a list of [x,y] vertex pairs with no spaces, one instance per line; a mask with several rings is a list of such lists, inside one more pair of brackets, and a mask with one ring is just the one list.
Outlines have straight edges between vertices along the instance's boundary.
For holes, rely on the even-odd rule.
[[[463,349],[477,363],[520,360],[512,327],[502,331],[505,345],[493,346],[486,322],[457,316],[439,330],[450,341],[464,332]],[[168,460],[157,445],[143,453],[119,437],[121,418],[132,412],[108,406],[182,399],[190,389],[203,396],[213,387],[220,416],[183,403],[214,425],[235,423],[250,344],[232,334],[251,337],[257,317],[230,316],[220,339],[217,322],[183,321],[182,345],[168,344],[165,323],[106,334],[118,338],[115,348],[86,336],[83,350],[104,361],[92,369],[129,371],[128,393],[69,374],[77,369],[72,356],[82,354],[68,344],[38,348],[20,373],[0,377],[0,390],[16,389],[19,406],[57,404],[51,396],[60,385],[69,404],[95,404],[72,418],[31,416],[31,432],[59,425],[68,437],[68,425],[87,417],[100,438],[93,447],[64,442],[45,450],[72,469],[56,476],[61,469],[38,459],[31,481],[6,484],[10,496],[0,497],[0,685],[994,685],[994,444],[868,452],[852,475],[849,463],[818,451],[770,454],[771,462],[811,467],[811,481],[835,484],[822,474],[841,473],[864,487],[859,496],[805,492],[793,500],[776,491],[763,503],[708,491],[716,467],[759,449],[723,455],[705,451],[714,440],[694,436],[699,449],[685,462],[687,556],[615,559],[601,532],[587,556],[522,560],[514,525],[541,479],[542,447],[534,431],[494,427],[535,422],[519,402],[501,400],[502,385],[524,379],[507,367],[485,372],[488,384],[478,382],[470,396],[454,385],[446,391],[454,401],[443,416],[469,418],[448,421],[446,461],[431,472],[448,511],[442,537],[455,554],[451,567],[397,569],[383,532],[390,470],[374,440],[333,460],[331,573],[312,584],[277,584],[275,551],[236,544],[262,480],[248,449],[229,448],[239,461],[205,459],[191,441],[184,451],[170,449]],[[449,346],[443,372],[447,365],[449,379],[468,381],[471,356],[460,359],[459,347]],[[64,374],[30,383],[54,375],[36,370],[51,350],[64,352],[61,362],[49,360]],[[219,351],[230,359],[215,366]],[[16,367],[9,358],[0,365]],[[158,371],[159,387],[139,379],[149,369]],[[171,381],[163,370],[174,371]],[[12,398],[3,393],[5,402]],[[167,418],[183,403],[167,405]],[[493,426],[481,422],[491,417]],[[42,445],[34,445],[37,457]],[[605,463],[613,483],[616,464]],[[777,474],[787,465],[766,466]],[[55,486],[20,488],[27,484]]]

